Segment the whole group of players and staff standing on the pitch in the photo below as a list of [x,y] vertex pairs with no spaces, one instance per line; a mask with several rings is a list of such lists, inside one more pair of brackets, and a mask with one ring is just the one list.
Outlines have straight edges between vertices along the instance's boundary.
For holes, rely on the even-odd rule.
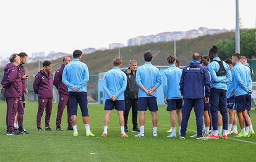
[[[7,135],[28,134],[23,129],[23,101],[22,95],[27,93],[24,80],[28,77],[23,68],[23,55],[12,54],[7,64],[2,87],[7,103]],[[27,59],[27,54],[25,54]],[[53,85],[59,92],[58,113],[56,119],[56,130],[61,129],[61,117],[65,106],[67,106],[68,130],[74,130],[73,135],[78,136],[77,131],[77,104],[82,111],[83,124],[86,136],[95,136],[90,131],[87,82],[89,80],[88,67],[83,62],[82,52],[75,50],[73,60],[69,57],[63,59],[63,64],[56,74],[51,74],[51,62],[43,62],[43,70],[38,72],[33,83],[34,92],[38,95],[38,113],[36,117],[37,130],[41,131],[41,117],[46,109],[45,130],[49,127],[53,104]],[[210,62],[209,60],[210,59]],[[139,132],[135,137],[144,137],[145,113],[151,112],[153,124],[153,137],[158,137],[157,126],[158,105],[156,102],[156,89],[163,83],[164,103],[168,106],[171,119],[171,132],[167,137],[176,138],[176,119],[178,116],[179,138],[185,139],[187,123],[190,112],[194,108],[197,124],[198,140],[219,139],[221,125],[223,124],[223,139],[228,139],[228,134],[237,134],[236,114],[241,126],[241,133],[237,137],[252,137],[254,130],[249,116],[250,94],[252,93],[252,79],[250,67],[241,64],[241,55],[233,54],[232,59],[225,62],[218,58],[218,48],[213,46],[208,57],[202,58],[195,53],[190,65],[180,69],[178,61],[174,56],[167,58],[169,67],[160,74],[160,70],[151,64],[153,56],[147,52],[144,54],[144,64],[137,68],[137,61],[129,62],[129,69],[122,72],[122,60],[113,60],[113,69],[106,72],[103,78],[103,90],[106,92],[105,119],[102,137],[108,136],[108,122],[113,109],[117,110],[121,126],[121,137],[128,137],[126,132],[129,110],[132,107],[132,123],[134,132]],[[233,64],[235,66],[233,67]],[[22,66],[20,68],[19,66]],[[163,76],[163,77],[162,77]],[[23,86],[23,87],[22,87]],[[21,91],[22,90],[22,91]],[[228,111],[229,109],[229,124]],[[140,113],[140,129],[137,127],[137,111]],[[209,113],[210,112],[210,113]],[[219,112],[219,113],[218,113]],[[15,131],[14,119],[18,114],[19,129]],[[219,115],[218,115],[219,114]],[[20,117],[19,117],[20,116]],[[22,116],[22,117],[21,117]],[[203,131],[203,116],[205,129]],[[222,120],[222,122],[221,122]],[[245,131],[244,123],[247,126]],[[210,124],[211,134],[210,132]],[[219,124],[219,127],[218,127]],[[221,127],[221,129],[220,129]],[[231,128],[233,130],[231,131]],[[219,128],[219,130],[218,130]]]

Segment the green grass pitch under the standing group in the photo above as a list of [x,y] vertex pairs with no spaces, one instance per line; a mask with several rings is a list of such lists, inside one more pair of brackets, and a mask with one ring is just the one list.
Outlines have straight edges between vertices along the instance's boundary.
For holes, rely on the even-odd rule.
[[[196,130],[194,112],[191,113],[186,140],[169,139],[169,113],[166,106],[159,106],[158,137],[153,138],[151,115],[146,114],[145,137],[135,138],[129,131],[128,138],[120,137],[117,112],[109,120],[108,137],[103,138],[104,110],[101,104],[89,104],[90,129],[96,137],[85,137],[80,110],[77,116],[79,137],[67,130],[66,109],[62,117],[63,131],[36,131],[37,103],[26,103],[23,127],[30,134],[6,135],[6,103],[0,103],[0,161],[254,161],[256,137],[239,138],[229,135],[228,140],[196,140],[189,136]],[[53,105],[50,127],[55,129],[57,104]],[[256,111],[250,112],[256,127]],[[44,113],[45,116],[45,113]],[[45,117],[42,117],[42,128]],[[129,130],[132,130],[131,112]],[[139,116],[138,116],[139,117]],[[139,120],[138,120],[139,121]],[[239,129],[239,126],[238,126]],[[178,130],[178,129],[177,129]],[[240,130],[240,129],[239,129]],[[176,133],[178,134],[178,133]],[[250,142],[250,143],[247,143]]]

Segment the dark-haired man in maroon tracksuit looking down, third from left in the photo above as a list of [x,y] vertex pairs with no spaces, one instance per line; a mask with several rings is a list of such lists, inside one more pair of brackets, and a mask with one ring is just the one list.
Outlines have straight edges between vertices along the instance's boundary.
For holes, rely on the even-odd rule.
[[43,70],[35,75],[33,89],[38,95],[38,112],[36,115],[37,130],[41,131],[41,117],[45,111],[45,130],[52,130],[49,127],[51,110],[53,108],[53,75],[51,74],[51,62],[43,62]]

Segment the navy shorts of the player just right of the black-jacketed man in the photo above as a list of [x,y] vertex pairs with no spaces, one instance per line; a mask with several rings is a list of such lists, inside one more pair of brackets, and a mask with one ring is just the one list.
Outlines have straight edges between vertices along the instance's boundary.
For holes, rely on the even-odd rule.
[[138,111],[158,111],[158,106],[156,102],[156,97],[139,97],[137,103]]

